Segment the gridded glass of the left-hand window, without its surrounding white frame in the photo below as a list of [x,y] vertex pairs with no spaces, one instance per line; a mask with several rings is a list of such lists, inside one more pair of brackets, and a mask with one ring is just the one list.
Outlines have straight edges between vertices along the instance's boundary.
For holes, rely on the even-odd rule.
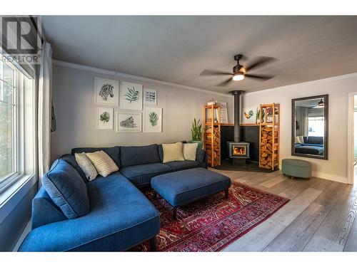
[[0,61],[0,187],[16,174],[16,72]]

